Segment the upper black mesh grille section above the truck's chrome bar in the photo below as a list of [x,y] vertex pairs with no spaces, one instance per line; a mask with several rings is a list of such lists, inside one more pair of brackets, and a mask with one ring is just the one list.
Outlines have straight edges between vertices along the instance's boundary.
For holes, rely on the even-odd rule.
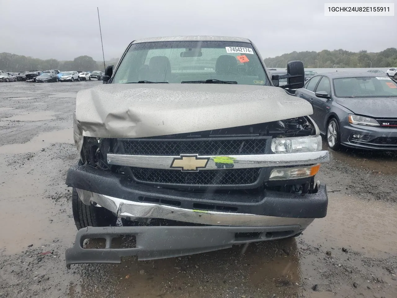
[[136,155],[236,155],[265,153],[266,138],[198,140],[123,140],[126,154]]

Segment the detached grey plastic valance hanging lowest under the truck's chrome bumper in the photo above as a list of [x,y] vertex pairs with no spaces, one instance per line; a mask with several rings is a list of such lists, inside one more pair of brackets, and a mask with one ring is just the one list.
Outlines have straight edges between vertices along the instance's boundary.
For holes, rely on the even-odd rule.
[[[132,255],[136,255],[139,260],[150,260],[211,252],[236,244],[287,238],[299,233],[300,228],[299,225],[89,226],[77,232],[74,246],[66,250],[66,266],[69,269],[71,264],[121,263],[120,257]],[[111,248],[112,239],[124,235],[136,237],[135,248]],[[84,240],[94,238],[105,239],[106,247],[83,248]]]

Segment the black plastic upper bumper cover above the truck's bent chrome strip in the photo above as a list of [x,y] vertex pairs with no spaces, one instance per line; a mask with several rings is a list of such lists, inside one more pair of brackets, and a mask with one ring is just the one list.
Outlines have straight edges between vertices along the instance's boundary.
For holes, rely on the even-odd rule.
[[[236,213],[267,215],[290,218],[322,218],[327,214],[328,196],[325,185],[320,185],[316,194],[291,194],[265,190],[255,194],[242,192],[213,193],[185,192],[137,184],[123,175],[77,164],[69,169],[67,186],[88,190],[97,194],[128,199],[130,201],[166,200],[185,209],[225,207]],[[205,209],[205,208],[202,208]],[[206,209],[210,210],[210,209]],[[221,209],[222,210],[222,209]]]

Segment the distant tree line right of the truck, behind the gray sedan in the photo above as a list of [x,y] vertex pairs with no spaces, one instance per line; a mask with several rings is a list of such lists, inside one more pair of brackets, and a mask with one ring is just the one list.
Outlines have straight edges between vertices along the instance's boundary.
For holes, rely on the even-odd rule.
[[321,52],[306,51],[282,54],[273,58],[265,58],[268,68],[284,68],[288,61],[299,60],[305,68],[389,68],[397,66],[397,49],[387,48],[374,53],[361,50],[349,52],[346,50],[322,50]]

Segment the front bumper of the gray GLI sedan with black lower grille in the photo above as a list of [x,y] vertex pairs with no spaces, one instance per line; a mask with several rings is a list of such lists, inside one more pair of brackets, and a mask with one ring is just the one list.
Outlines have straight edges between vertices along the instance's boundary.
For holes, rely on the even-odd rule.
[[[362,135],[355,138],[353,135]],[[341,143],[347,147],[370,150],[397,150],[397,128],[367,127],[345,123],[341,126]]]

